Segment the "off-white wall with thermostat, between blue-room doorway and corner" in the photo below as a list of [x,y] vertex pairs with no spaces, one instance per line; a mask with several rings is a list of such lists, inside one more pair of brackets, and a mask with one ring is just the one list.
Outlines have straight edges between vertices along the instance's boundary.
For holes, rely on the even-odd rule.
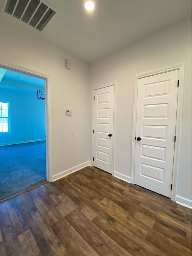
[[[25,30],[9,18],[0,15],[0,62],[50,76],[52,174],[56,179],[66,174],[57,175],[60,172],[88,164],[88,65],[41,39],[40,32]],[[65,69],[65,58],[71,61],[70,71]],[[67,108],[73,111],[71,117],[66,116]]]

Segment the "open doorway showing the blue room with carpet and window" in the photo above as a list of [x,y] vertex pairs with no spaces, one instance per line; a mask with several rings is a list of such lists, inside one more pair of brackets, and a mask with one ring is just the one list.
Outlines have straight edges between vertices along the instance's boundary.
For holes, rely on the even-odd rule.
[[42,77],[0,67],[0,201],[48,180],[45,86]]

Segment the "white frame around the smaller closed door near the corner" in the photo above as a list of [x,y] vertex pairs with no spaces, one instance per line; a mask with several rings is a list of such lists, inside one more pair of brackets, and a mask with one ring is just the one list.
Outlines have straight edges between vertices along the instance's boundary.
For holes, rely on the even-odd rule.
[[105,87],[109,87],[109,86],[113,86],[114,85],[114,114],[113,114],[113,155],[112,155],[112,175],[114,176],[114,172],[115,172],[115,139],[116,139],[116,135],[115,135],[115,131],[116,131],[116,116],[117,116],[117,104],[116,104],[116,100],[117,100],[117,82],[115,83],[110,83],[107,84],[105,86],[101,86],[101,87],[97,87],[97,88],[93,88],[92,89],[92,154],[91,154],[91,166],[93,166],[93,155],[94,155],[94,138],[93,138],[93,129],[94,129],[94,100],[93,97],[95,95],[95,90],[98,89],[102,89]]

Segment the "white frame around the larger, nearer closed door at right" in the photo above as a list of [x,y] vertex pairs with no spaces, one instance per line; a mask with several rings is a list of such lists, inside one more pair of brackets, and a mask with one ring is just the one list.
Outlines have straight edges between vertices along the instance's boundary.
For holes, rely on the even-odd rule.
[[134,104],[133,104],[133,128],[132,128],[132,159],[131,159],[131,183],[134,184],[134,168],[135,168],[135,137],[136,137],[136,119],[137,119],[137,93],[138,93],[138,80],[140,78],[149,77],[173,70],[179,70],[179,87],[177,96],[177,115],[176,115],[176,142],[174,148],[174,158],[173,158],[173,175],[172,184],[173,189],[171,191],[171,200],[176,200],[176,186],[177,186],[177,176],[179,168],[179,152],[181,144],[181,126],[182,126],[182,110],[183,110],[183,92],[184,92],[184,63],[181,65],[176,65],[170,68],[164,68],[161,70],[149,72],[139,76],[135,76],[134,83]]

